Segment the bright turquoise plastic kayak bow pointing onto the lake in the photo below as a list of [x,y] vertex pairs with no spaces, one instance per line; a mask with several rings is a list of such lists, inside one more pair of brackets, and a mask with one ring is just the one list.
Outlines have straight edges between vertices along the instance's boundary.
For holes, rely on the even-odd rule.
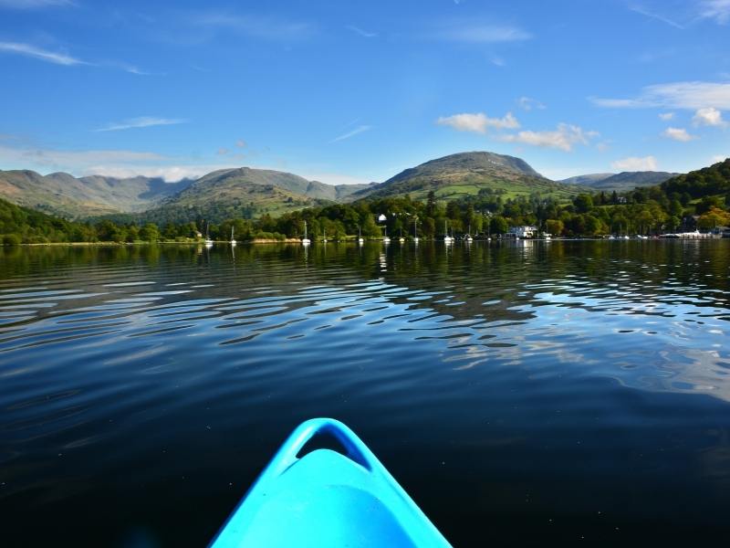
[[[315,449],[336,437],[347,455]],[[245,495],[211,546],[448,546],[443,535],[348,427],[330,418],[303,423]]]

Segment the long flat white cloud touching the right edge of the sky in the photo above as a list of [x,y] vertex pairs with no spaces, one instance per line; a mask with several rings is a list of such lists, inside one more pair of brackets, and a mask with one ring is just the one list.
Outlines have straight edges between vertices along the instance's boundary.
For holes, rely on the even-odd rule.
[[730,110],[730,83],[685,81],[647,86],[631,99],[591,98],[600,107],[616,109],[668,108],[697,110],[713,107]]

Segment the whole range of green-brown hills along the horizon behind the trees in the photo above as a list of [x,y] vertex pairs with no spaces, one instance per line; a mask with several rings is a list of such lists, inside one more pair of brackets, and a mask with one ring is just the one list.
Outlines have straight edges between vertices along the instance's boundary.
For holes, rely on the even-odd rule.
[[0,197],[66,218],[135,214],[153,221],[182,222],[195,218],[224,218],[287,211],[331,202],[430,192],[452,200],[480,192],[502,195],[544,195],[569,199],[595,190],[631,190],[659,184],[674,174],[624,172],[588,174],[551,181],[514,156],[488,152],[456,153],[396,174],[384,183],[324,184],[296,174],[241,167],[217,170],[198,179],[169,183],[156,177],[74,177],[66,173],[41,175],[33,171],[0,171]]

